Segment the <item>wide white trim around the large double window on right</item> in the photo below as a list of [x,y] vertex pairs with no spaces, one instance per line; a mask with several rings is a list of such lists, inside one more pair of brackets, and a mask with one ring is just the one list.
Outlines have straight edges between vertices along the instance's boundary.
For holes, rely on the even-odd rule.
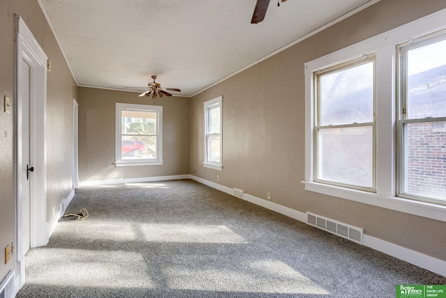
[[[305,190],[347,200],[446,221],[446,206],[396,196],[397,45],[432,31],[445,29],[446,10],[417,19],[345,49],[305,63]],[[313,75],[325,68],[363,54],[376,53],[376,193],[325,185],[314,181],[314,83]]]

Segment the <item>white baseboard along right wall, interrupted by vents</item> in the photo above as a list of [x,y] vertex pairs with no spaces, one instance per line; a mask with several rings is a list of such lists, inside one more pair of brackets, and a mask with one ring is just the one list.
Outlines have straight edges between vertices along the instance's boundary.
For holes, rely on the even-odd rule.
[[[208,180],[199,178],[194,175],[190,175],[190,179],[200,182],[203,185],[208,185],[209,187],[213,187],[215,189],[223,191],[226,194],[230,194],[231,196],[234,196],[233,189],[229,187],[219,185],[215,182],[210,182]],[[291,217],[292,219],[296,219],[298,221],[302,221],[303,223],[307,224],[307,214],[304,212],[300,212],[298,210],[294,210],[289,207],[279,205],[277,203],[272,203],[270,201],[263,200],[262,198],[258,198],[256,196],[251,196],[249,194],[244,194],[243,200],[253,203],[255,205],[259,205],[261,207],[265,207],[266,209],[275,211],[277,213],[284,214],[287,217]],[[419,253],[411,249],[406,249],[406,247],[399,246],[397,244],[393,244],[385,240],[380,240],[376,237],[372,237],[367,234],[364,234],[363,245],[370,247],[371,249],[375,249],[376,251],[386,253],[387,255],[393,256],[400,260],[410,262],[410,264],[422,267],[431,272],[435,272],[436,274],[446,276],[445,260],[433,258],[431,256],[425,255],[424,253]]]

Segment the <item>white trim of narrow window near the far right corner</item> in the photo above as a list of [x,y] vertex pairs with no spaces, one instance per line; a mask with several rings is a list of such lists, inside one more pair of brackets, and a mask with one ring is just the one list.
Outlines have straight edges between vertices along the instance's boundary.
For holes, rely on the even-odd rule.
[[[208,162],[208,107],[220,105],[220,162]],[[223,96],[215,97],[213,100],[203,102],[203,166],[213,168],[217,171],[223,171]]]

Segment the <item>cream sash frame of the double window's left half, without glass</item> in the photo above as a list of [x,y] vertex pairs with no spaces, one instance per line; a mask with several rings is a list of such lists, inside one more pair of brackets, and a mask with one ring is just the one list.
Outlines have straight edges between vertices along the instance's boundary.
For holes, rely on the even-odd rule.
[[[369,54],[363,54],[360,57],[356,57],[353,59],[350,59],[348,61],[342,61],[341,63],[336,63],[334,65],[330,65],[327,68],[319,68],[316,72],[313,72],[313,79],[314,79],[314,181],[321,182],[328,185],[337,185],[340,187],[348,187],[351,189],[361,189],[364,191],[372,191],[374,192],[376,190],[376,59],[375,59],[374,53]],[[327,75],[334,72],[339,72],[342,70],[348,70],[350,68],[355,68],[360,65],[364,65],[367,63],[373,63],[373,120],[372,122],[367,123],[348,123],[348,124],[339,124],[339,125],[321,125],[321,88],[320,88],[320,80],[323,75]],[[324,180],[322,178],[319,178],[319,143],[321,137],[319,136],[320,130],[332,130],[337,128],[351,128],[351,127],[372,127],[372,169],[371,169],[371,175],[372,175],[372,182],[371,187],[361,187],[358,185],[349,185],[347,183],[342,182],[334,182],[331,180]]]

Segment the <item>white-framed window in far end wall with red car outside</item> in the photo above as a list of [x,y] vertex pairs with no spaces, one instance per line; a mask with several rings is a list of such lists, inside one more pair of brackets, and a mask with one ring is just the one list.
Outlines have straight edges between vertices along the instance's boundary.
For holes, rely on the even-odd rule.
[[162,107],[116,103],[116,166],[162,164]]

